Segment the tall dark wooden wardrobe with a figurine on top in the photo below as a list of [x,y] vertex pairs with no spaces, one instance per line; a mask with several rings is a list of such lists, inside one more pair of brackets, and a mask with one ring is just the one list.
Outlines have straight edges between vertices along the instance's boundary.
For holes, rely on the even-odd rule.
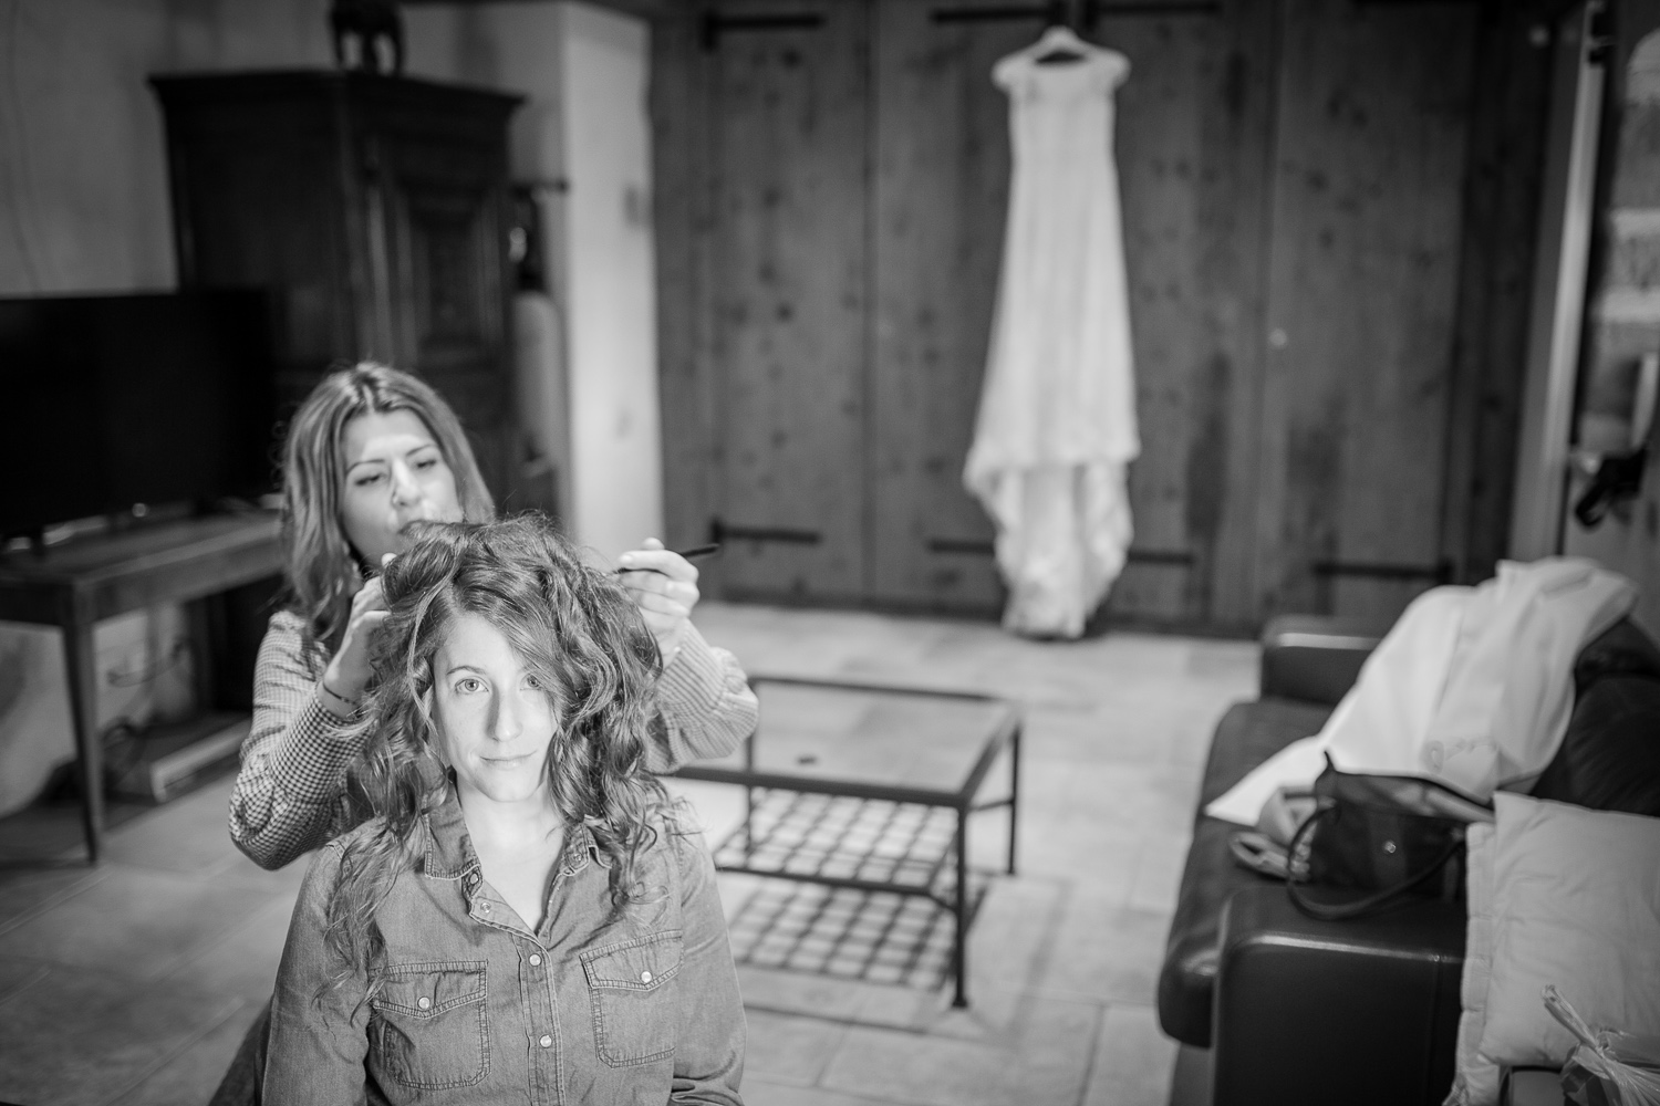
[[518,98],[334,71],[151,83],[179,284],[271,289],[279,403],[340,361],[413,370],[455,406],[501,499],[516,461],[506,123]]

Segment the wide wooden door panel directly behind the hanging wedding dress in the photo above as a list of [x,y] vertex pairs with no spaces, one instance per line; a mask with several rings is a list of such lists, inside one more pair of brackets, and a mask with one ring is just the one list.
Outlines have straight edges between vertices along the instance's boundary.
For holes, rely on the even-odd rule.
[[[872,595],[998,609],[991,522],[963,489],[1008,217],[1009,103],[1034,18],[989,0],[876,5]],[[1117,134],[1142,458],[1112,612],[1247,618],[1267,164],[1267,8],[1117,17]],[[1102,141],[1114,136],[1102,134]]]

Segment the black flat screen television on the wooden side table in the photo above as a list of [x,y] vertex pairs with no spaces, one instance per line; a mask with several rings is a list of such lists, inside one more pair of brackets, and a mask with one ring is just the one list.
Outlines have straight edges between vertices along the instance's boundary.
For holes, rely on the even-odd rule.
[[0,298],[0,532],[276,481],[264,292]]

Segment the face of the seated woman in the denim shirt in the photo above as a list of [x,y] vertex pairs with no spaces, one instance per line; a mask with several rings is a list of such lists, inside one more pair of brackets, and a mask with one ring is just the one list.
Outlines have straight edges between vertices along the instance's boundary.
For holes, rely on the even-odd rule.
[[438,756],[461,801],[543,799],[558,718],[525,662],[495,625],[461,615],[432,660]]

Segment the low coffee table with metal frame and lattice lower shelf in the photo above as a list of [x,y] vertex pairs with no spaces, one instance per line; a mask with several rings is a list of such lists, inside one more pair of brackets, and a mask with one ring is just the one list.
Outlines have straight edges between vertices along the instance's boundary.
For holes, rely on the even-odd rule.
[[[968,1005],[969,814],[1009,808],[1008,872],[1019,824],[1021,713],[989,695],[752,677],[760,725],[740,749],[679,769],[742,786],[744,822],[715,867],[830,887],[923,895],[951,912],[953,1005]],[[1003,753],[1008,794],[979,791]],[[998,793],[1003,789],[998,788]]]

